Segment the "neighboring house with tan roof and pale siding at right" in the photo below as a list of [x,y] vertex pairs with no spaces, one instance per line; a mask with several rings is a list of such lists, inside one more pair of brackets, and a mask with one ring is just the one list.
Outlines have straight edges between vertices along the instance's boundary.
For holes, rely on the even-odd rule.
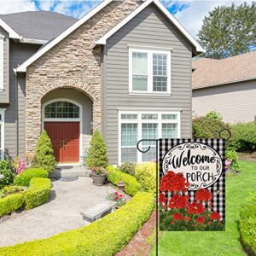
[[215,110],[229,123],[256,119],[256,52],[201,58],[192,61],[192,68],[193,113]]

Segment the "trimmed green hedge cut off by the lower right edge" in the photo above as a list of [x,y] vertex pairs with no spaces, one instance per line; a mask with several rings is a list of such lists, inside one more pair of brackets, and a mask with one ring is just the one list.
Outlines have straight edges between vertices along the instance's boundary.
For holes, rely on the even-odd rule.
[[240,235],[247,253],[256,255],[256,205],[249,205],[241,209]]

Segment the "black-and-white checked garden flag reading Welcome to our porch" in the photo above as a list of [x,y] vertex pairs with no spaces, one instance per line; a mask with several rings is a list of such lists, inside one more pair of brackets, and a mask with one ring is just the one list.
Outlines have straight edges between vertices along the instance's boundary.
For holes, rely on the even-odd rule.
[[160,139],[160,230],[224,230],[225,141]]

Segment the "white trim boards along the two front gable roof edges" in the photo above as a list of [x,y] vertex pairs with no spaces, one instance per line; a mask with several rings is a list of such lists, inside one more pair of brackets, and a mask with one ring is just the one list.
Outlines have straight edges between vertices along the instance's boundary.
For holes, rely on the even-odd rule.
[[[52,49],[56,44],[60,43],[62,39],[66,38],[70,33],[72,33],[74,30],[76,30],[79,26],[82,26],[84,22],[89,20],[92,16],[96,15],[97,12],[99,12],[101,9],[103,9],[105,6],[108,5],[108,3],[111,3],[114,0],[104,0],[102,3],[96,6],[96,8],[92,9],[87,15],[84,15],[80,20],[75,22],[73,26],[70,26],[66,31],[62,32],[58,37],[54,38],[52,41],[50,41],[48,44],[46,44],[44,47],[38,50],[34,55],[32,55],[29,59],[27,59],[25,62],[23,62],[20,67],[17,67],[15,69],[16,72],[25,73],[26,67],[30,66],[32,62],[38,60],[42,55],[44,55],[49,49]],[[119,25],[113,27],[112,30],[110,30],[109,34],[107,33],[105,35],[105,38],[101,38],[102,41],[97,41],[96,44],[103,44],[105,43],[105,40],[107,40],[108,37],[110,37],[111,33],[114,33],[119,30],[120,27],[124,26],[129,20],[131,20],[134,16],[136,16],[138,13],[140,13],[143,9],[145,9],[150,3],[155,3],[159,9],[170,19],[171,22],[173,22],[177,28],[183,32],[184,36],[188,38],[189,42],[193,45],[195,45],[196,51],[198,53],[203,52],[204,50],[201,48],[201,46],[193,39],[189,32],[187,32],[183,26],[181,26],[177,20],[166,10],[166,8],[158,1],[158,0],[144,0],[144,3],[140,5],[136,10],[134,10],[131,15],[128,15],[124,20],[122,20]],[[105,43],[106,44],[106,43]]]

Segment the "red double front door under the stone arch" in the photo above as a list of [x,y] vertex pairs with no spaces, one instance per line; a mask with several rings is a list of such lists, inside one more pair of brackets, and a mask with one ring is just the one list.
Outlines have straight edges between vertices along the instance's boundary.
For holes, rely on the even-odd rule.
[[44,122],[58,163],[79,162],[79,122]]

